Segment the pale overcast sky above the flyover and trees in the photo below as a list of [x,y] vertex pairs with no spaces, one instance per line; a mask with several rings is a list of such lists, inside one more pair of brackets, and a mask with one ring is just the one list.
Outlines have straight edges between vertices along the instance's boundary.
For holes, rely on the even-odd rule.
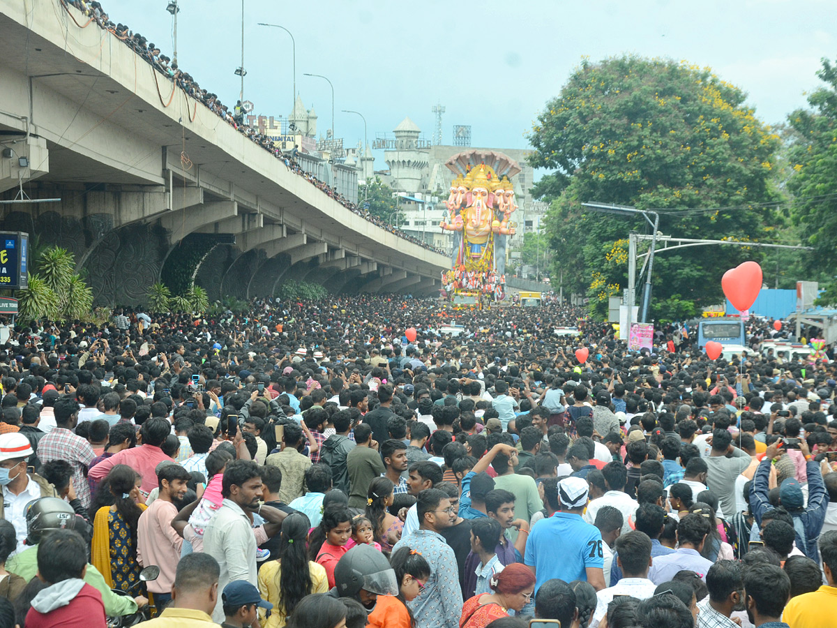
[[[177,54],[182,69],[232,106],[241,60],[237,0],[179,0]],[[126,23],[172,56],[167,0],[102,0]],[[296,90],[314,106],[322,134],[331,126],[334,84],[336,136],[348,146],[372,139],[410,116],[427,139],[431,107],[446,107],[443,142],[452,127],[471,125],[472,145],[525,148],[526,133],[546,101],[558,94],[583,56],[624,53],[686,59],[708,65],[745,90],[757,116],[783,121],[818,85],[820,59],[837,58],[834,3],[822,0],[483,0],[481,3],[392,0],[245,0],[244,96],[255,112],[287,116],[293,64],[287,33],[296,39]],[[376,167],[385,167],[383,151]]]

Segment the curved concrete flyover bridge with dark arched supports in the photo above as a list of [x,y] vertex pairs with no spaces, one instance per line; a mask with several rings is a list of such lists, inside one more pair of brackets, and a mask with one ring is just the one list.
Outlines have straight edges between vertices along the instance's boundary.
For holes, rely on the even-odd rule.
[[[118,18],[118,17],[117,17]],[[59,0],[0,0],[0,229],[75,254],[96,304],[151,284],[439,290],[449,258],[368,222]],[[25,158],[25,161],[21,161]]]

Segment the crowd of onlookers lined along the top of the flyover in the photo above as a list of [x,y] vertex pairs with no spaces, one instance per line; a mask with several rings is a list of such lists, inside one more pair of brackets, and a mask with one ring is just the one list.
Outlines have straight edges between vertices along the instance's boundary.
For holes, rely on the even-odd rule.
[[370,214],[366,208],[360,207],[357,203],[352,203],[341,193],[337,192],[336,187],[322,182],[320,179],[311,174],[311,172],[306,172],[306,170],[304,170],[295,159],[296,151],[298,149],[294,148],[292,151],[282,152],[281,148],[269,136],[263,134],[259,131],[259,129],[244,123],[244,109],[242,109],[240,100],[236,106],[234,106],[234,110],[230,111],[229,106],[221,103],[217,94],[201,89],[200,85],[198,85],[198,81],[194,80],[192,75],[183,72],[177,67],[177,63],[172,62],[172,59],[169,59],[165,54],[161,54],[160,49],[153,42],[148,42],[148,40],[140,33],[131,32],[125,24],[113,23],[108,14],[105,13],[105,10],[102,8],[100,3],[95,2],[95,0],[93,0],[93,2],[87,2],[86,0],[58,0],[58,2],[64,5],[73,5],[75,8],[78,8],[82,13],[88,16],[91,21],[95,21],[100,28],[113,33],[116,38],[124,41],[136,52],[136,54],[139,54],[143,59],[151,64],[154,69],[157,69],[158,72],[165,75],[168,79],[173,80],[177,86],[183,90],[184,94],[192,96],[195,100],[200,100],[203,105],[208,107],[209,111],[212,111],[215,115],[226,121],[230,126],[233,126],[237,131],[249,137],[250,140],[264,148],[264,150],[272,153],[274,157],[282,160],[289,170],[306,178],[308,182],[316,186],[316,188],[321,190],[322,193],[325,193],[328,197],[333,198],[337,203],[343,205],[343,207],[349,209],[358,216],[362,216],[362,218],[367,219],[369,222],[377,224],[378,227],[387,229],[389,233],[412,242],[414,245],[419,245],[425,249],[434,250],[442,255],[447,255],[446,251],[440,250],[432,245],[428,245],[424,242],[424,240],[416,238],[415,236],[408,234],[406,231],[398,229],[398,227],[392,224],[388,224],[385,220]]

